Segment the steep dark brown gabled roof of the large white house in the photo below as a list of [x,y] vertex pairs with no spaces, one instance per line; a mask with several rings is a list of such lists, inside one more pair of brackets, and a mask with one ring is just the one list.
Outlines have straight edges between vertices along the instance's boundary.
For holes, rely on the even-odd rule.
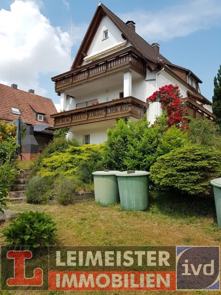
[[122,32],[124,37],[136,48],[145,59],[148,59],[154,63],[158,63],[161,59],[164,63],[171,64],[168,59],[158,53],[149,43],[147,43],[142,37],[136,33],[134,29],[131,29],[120,18],[118,18],[111,10],[109,10],[104,4],[99,3],[95,14],[90,22],[90,25],[83,38],[82,44],[76,55],[76,58],[72,64],[72,69],[75,69],[82,65],[83,54],[87,53],[91,42],[96,34],[96,31],[101,23],[102,18],[107,15],[115,26]]

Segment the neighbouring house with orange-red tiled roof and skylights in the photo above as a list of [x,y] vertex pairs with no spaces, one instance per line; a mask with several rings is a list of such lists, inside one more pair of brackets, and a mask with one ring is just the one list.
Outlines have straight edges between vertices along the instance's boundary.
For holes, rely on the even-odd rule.
[[17,89],[16,84],[11,87],[0,84],[0,120],[15,121],[21,117],[25,126],[34,126],[34,137],[38,143],[38,151],[45,148],[53,138],[55,131],[54,119],[56,108],[49,98]]

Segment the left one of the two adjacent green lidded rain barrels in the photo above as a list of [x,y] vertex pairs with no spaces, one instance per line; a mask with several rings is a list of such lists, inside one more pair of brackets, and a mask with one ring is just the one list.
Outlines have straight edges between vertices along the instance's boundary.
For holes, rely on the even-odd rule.
[[101,206],[120,202],[116,177],[118,172],[105,170],[92,173],[94,176],[95,202],[100,202]]

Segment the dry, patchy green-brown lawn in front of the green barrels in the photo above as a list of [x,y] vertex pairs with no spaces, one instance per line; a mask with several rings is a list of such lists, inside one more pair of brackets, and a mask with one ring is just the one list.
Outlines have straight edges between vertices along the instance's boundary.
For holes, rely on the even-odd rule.
[[[101,207],[94,201],[72,206],[39,206],[11,204],[15,210],[40,209],[52,214],[57,224],[57,243],[60,245],[220,245],[221,229],[216,223],[213,200],[168,201],[154,199],[148,211],[122,211],[120,205]],[[1,226],[5,228],[9,222]],[[0,244],[4,241],[0,238]],[[27,294],[23,292],[9,294]],[[70,292],[28,292],[31,294],[60,295]],[[100,295],[123,292],[76,292],[72,294]],[[219,292],[127,292],[127,294],[220,294]]]

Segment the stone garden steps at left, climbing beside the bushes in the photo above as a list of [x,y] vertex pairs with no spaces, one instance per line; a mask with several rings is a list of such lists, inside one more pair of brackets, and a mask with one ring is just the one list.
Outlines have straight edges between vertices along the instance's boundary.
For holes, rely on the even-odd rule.
[[25,202],[26,181],[30,174],[30,169],[23,169],[16,179],[14,190],[8,193],[10,201],[13,203]]

